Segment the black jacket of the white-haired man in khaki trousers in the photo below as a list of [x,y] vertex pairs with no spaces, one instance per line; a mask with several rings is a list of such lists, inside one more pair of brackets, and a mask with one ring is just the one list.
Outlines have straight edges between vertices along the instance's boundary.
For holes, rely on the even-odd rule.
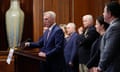
[[86,35],[82,34],[79,36],[77,41],[78,43],[78,56],[79,64],[86,64],[90,58],[90,49],[93,42],[96,38],[99,37],[99,34],[96,32],[94,26],[88,28]]

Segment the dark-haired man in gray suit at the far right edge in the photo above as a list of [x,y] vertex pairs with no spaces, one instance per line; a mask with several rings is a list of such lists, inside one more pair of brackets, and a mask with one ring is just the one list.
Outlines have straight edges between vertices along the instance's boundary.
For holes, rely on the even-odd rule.
[[106,4],[103,16],[110,26],[101,41],[101,57],[95,72],[120,72],[120,4]]

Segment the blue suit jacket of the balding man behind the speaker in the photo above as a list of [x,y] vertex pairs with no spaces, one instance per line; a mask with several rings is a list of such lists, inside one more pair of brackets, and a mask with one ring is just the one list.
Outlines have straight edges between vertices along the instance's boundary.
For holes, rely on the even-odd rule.
[[78,38],[78,34],[76,32],[72,33],[72,35],[70,36],[68,42],[65,44],[65,48],[64,48],[64,56],[65,56],[65,61],[68,64],[69,62],[74,62],[74,59],[76,57],[77,54],[77,38]]

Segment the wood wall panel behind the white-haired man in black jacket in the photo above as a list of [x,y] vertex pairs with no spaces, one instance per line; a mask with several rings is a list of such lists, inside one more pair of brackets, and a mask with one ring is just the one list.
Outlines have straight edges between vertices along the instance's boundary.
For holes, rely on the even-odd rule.
[[94,20],[102,15],[104,4],[111,0],[74,0],[74,22],[77,27],[82,25],[82,16],[92,14]]

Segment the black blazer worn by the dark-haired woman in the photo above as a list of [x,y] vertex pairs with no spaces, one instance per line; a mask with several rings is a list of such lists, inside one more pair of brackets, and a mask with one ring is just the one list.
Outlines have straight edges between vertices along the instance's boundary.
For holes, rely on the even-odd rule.
[[100,59],[100,42],[102,36],[95,40],[90,51],[90,60],[87,63],[88,68],[97,67]]

